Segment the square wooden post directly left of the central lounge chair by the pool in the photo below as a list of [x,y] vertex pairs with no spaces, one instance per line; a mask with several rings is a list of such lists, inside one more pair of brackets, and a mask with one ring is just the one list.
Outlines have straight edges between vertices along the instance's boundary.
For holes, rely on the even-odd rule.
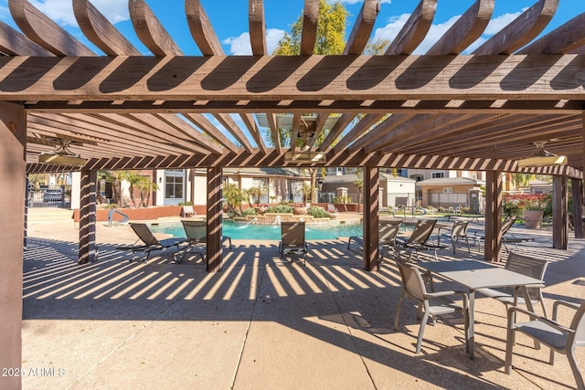
[[221,270],[222,254],[221,168],[207,168],[207,272]]

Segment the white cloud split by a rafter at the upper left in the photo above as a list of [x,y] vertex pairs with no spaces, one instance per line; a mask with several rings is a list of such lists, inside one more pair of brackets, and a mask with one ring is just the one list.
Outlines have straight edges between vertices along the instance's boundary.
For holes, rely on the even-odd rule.
[[[31,0],[39,11],[64,26],[78,26],[73,15],[73,5],[70,1],[63,0]],[[130,18],[128,5],[120,0],[93,0],[91,2],[103,16],[113,24]]]

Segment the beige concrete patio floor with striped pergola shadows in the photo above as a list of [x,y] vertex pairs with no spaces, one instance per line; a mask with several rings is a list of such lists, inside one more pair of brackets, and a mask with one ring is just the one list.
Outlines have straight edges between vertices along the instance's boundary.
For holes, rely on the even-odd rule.
[[[514,233],[535,237],[520,251],[551,262],[544,290],[549,311],[552,300],[585,298],[585,241],[571,239],[564,251],[550,248],[550,231],[515,227]],[[361,249],[347,249],[346,240],[311,242],[306,266],[280,266],[276,241],[234,240],[222,271],[209,274],[198,257],[176,264],[163,253],[131,263],[115,250],[135,240],[130,227],[103,223],[96,233],[99,260],[80,266],[78,235],[70,212],[51,217],[31,210],[25,389],[575,387],[565,356],[550,366],[548,349],[535,350],[521,335],[515,369],[504,374],[505,306],[488,298],[476,300],[473,360],[456,315],[427,326],[416,355],[419,322],[411,302],[393,330],[398,270],[387,259],[378,272],[364,271]],[[452,250],[440,256],[453,258]],[[456,257],[483,255],[462,248]],[[440,279],[435,284],[462,289]],[[585,369],[585,348],[577,352]]]

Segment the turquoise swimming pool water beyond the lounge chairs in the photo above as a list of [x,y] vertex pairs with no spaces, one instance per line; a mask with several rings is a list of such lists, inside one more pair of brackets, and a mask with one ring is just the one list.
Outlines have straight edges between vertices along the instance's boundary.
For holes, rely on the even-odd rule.
[[[171,234],[173,237],[185,237],[185,230],[180,222],[153,224],[151,229],[154,233]],[[231,221],[224,221],[223,235],[233,239],[281,239],[280,225],[244,225],[235,224]],[[305,225],[305,237],[307,240],[336,239],[337,237],[362,236],[361,224],[339,224],[339,225]]]

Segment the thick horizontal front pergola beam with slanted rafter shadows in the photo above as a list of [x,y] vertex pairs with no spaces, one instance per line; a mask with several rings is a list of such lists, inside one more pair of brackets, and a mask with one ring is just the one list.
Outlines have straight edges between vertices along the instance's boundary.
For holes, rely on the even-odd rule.
[[580,55],[328,57],[0,58],[0,100],[585,99]]

